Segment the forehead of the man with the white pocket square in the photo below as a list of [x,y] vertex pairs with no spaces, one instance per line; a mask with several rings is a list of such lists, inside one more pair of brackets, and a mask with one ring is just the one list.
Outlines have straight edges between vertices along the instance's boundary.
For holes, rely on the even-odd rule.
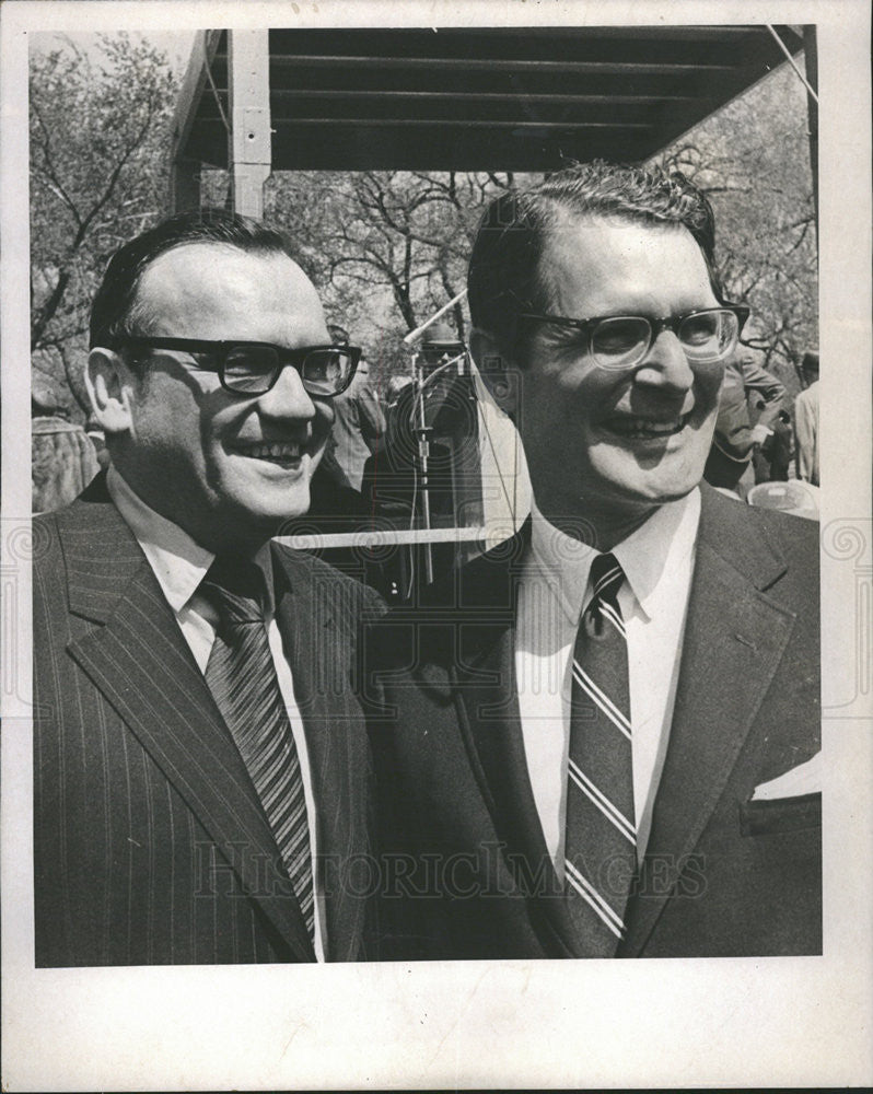
[[549,306],[579,318],[620,311],[664,315],[717,303],[703,253],[682,224],[562,212],[539,272]]

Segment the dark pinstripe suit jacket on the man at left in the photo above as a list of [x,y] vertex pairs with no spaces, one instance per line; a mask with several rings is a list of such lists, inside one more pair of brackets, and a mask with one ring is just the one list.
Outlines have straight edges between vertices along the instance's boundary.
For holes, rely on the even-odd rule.
[[[37,966],[314,958],[252,782],[136,539],[97,480],[34,521]],[[370,760],[353,672],[375,594],[273,548],[305,725],[329,957],[363,946]]]

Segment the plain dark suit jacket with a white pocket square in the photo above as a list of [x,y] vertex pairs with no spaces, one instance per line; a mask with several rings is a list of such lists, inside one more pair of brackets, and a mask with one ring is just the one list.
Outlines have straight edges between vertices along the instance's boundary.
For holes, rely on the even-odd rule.
[[[820,953],[818,535],[705,487],[665,765],[619,956]],[[385,957],[583,956],[524,756],[522,534],[368,642]],[[558,895],[556,895],[558,894]]]

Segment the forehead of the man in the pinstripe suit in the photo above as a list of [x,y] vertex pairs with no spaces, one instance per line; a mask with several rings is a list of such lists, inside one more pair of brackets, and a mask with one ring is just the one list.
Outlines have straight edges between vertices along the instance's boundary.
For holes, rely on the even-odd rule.
[[154,335],[275,342],[301,336],[304,345],[327,334],[318,294],[296,263],[221,243],[159,255],[140,278],[137,303]]

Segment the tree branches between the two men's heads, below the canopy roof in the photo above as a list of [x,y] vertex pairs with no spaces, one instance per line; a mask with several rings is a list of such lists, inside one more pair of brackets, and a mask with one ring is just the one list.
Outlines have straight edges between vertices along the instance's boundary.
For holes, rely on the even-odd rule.
[[[464,288],[481,209],[513,182],[485,172],[289,172],[270,181],[267,217],[296,242],[328,311],[385,375],[408,369],[403,336]],[[451,317],[464,337],[462,304]]]

